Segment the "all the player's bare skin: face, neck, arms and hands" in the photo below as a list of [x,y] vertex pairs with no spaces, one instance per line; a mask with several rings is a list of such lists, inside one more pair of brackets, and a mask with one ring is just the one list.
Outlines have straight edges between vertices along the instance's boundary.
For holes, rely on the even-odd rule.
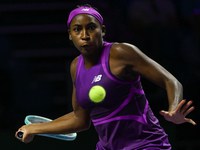
[[[72,19],[68,32],[69,39],[83,56],[85,67],[91,68],[100,57],[105,26],[100,25],[98,20],[91,15],[79,14]],[[29,143],[35,134],[67,134],[87,130],[90,127],[89,113],[81,108],[76,100],[74,83],[77,61],[78,57],[72,61],[70,69],[73,82],[72,105],[74,111],[51,122],[22,126],[19,128],[19,130],[24,131],[22,142]],[[192,101],[186,103],[186,100],[182,100],[181,83],[137,47],[127,43],[113,44],[110,49],[109,65],[111,73],[118,78],[134,80],[138,76],[142,76],[164,88],[168,96],[169,109],[168,111],[160,111],[160,114],[167,121],[175,124],[189,122],[196,125],[193,120],[185,118],[194,110],[194,107],[191,107]]]

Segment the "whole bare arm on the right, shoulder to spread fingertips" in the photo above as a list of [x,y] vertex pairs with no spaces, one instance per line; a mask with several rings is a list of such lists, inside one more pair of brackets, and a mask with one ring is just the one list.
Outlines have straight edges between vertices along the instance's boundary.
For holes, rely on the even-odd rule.
[[[183,87],[181,83],[161,65],[147,57],[137,47],[125,43],[115,44],[112,47],[110,60],[111,66],[117,63],[117,66],[122,68],[121,70],[126,70],[121,72],[126,72],[128,75],[126,77],[129,79],[134,79],[140,75],[166,90],[169,109],[161,113],[166,120],[177,124],[190,122],[195,125],[194,121],[185,118],[188,113],[194,110],[194,107],[190,107],[192,102],[189,101],[184,105],[185,101],[183,100]],[[113,69],[114,74],[116,70],[120,70],[120,67]]]

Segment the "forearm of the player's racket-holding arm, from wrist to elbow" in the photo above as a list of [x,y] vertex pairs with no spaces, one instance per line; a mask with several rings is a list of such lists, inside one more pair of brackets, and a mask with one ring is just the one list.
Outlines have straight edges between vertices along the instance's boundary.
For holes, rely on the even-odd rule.
[[64,115],[51,122],[31,124],[28,128],[30,134],[67,134],[86,130],[84,121],[74,117],[74,112]]

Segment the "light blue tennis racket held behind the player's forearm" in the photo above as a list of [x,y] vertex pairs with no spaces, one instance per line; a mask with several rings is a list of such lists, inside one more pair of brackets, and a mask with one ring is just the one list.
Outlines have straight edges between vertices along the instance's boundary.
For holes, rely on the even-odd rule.
[[[49,122],[52,121],[49,118],[41,117],[41,116],[36,116],[36,115],[28,115],[26,116],[24,122],[26,125],[32,124],[32,123],[44,123],[44,122]],[[65,140],[65,141],[73,141],[76,139],[77,133],[70,133],[70,134],[38,134],[40,136],[45,136],[45,137],[50,137],[50,138],[55,138],[59,140]],[[19,139],[23,138],[23,131],[18,131],[17,132],[17,137]]]

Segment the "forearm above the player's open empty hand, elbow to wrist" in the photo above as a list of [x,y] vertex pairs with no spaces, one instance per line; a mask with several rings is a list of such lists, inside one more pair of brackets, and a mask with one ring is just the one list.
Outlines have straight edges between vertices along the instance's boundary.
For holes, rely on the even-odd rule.
[[169,102],[168,111],[173,111],[183,100],[183,87],[178,80],[172,79],[166,82],[166,90]]

